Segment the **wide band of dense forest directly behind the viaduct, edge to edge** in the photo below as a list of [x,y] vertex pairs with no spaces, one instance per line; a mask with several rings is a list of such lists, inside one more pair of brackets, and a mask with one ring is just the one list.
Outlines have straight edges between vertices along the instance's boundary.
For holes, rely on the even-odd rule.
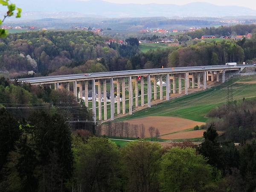
[[[108,37],[85,31],[11,34],[0,40],[0,71],[8,71],[11,78],[17,78],[28,76],[27,72],[31,70],[35,72],[32,76],[44,76],[226,62],[253,63],[256,60],[255,31],[255,25],[200,29],[180,35],[179,47],[149,50],[146,53],[140,52],[137,38],[125,39],[127,44],[108,45],[105,44]],[[198,33],[200,36],[213,32],[219,35],[252,32],[253,35],[250,39],[239,41],[186,41]]]

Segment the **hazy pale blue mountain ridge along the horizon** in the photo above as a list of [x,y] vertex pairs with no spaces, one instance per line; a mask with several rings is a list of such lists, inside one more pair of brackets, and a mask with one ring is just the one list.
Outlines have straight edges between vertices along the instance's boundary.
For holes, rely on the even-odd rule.
[[[174,4],[119,4],[102,0],[15,0],[17,6],[26,12],[44,12],[48,15],[58,12],[74,12],[95,17],[227,17],[250,15],[256,11],[240,6],[216,6],[196,2],[183,6]],[[1,11],[1,9],[0,9]],[[57,14],[58,16],[58,14]]]

